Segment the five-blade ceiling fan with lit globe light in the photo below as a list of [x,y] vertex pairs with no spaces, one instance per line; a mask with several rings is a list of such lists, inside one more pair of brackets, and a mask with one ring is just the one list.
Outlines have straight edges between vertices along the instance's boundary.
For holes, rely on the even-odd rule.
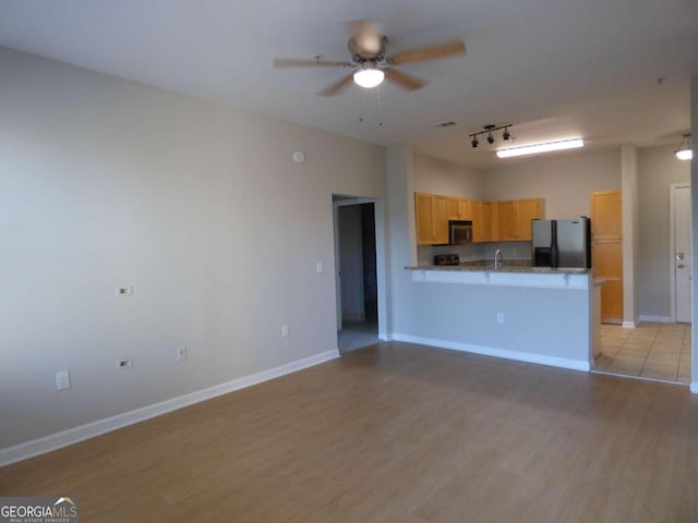
[[329,61],[318,56],[311,60],[277,58],[275,68],[329,66],[351,68],[352,72],[342,76],[318,94],[333,96],[344,90],[352,81],[361,87],[372,88],[384,80],[407,89],[417,90],[426,82],[395,69],[404,63],[423,62],[438,58],[466,53],[466,45],[461,40],[449,40],[434,46],[421,47],[409,51],[387,56],[388,38],[383,34],[377,22],[357,21],[348,23],[351,37],[348,41],[351,61]]

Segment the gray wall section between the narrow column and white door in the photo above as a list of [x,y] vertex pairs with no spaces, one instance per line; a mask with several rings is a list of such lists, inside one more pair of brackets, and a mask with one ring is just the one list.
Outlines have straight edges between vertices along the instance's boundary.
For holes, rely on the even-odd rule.
[[676,146],[639,149],[639,267],[640,317],[669,319],[670,269],[669,191],[672,183],[690,181],[690,162],[674,156]]

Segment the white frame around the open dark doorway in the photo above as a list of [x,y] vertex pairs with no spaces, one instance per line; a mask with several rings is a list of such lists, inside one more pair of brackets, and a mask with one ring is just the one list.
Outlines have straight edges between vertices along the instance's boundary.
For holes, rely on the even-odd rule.
[[[340,196],[334,194],[333,196]],[[345,195],[341,195],[345,196]],[[375,269],[378,300],[378,338],[388,339],[387,332],[387,260],[385,241],[385,204],[382,198],[366,198],[361,196],[346,196],[346,199],[333,200],[334,244],[335,244],[335,307],[337,330],[342,327],[341,321],[341,280],[339,275],[339,207],[348,205],[373,204],[375,218]]]

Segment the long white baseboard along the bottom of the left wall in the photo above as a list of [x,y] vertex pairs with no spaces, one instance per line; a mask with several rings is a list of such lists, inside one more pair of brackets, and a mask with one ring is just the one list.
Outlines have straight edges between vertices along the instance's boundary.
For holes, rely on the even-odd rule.
[[236,390],[244,389],[245,387],[251,387],[263,381],[268,381],[269,379],[302,370],[303,368],[312,367],[336,357],[339,357],[339,351],[337,350],[323,352],[278,367],[262,370],[261,373],[243,376],[225,384],[215,385],[170,400],[146,405],[134,411],[124,412],[112,417],[106,417],[104,419],[81,425],[80,427],[69,428],[61,433],[51,434],[32,441],[0,449],[0,466],[26,460],[28,458],[50,452],[51,450],[57,450],[85,439],[94,438],[95,436],[110,433],[111,430],[133,425],[134,423],[143,422],[194,403],[210,400],[218,396],[227,394]]

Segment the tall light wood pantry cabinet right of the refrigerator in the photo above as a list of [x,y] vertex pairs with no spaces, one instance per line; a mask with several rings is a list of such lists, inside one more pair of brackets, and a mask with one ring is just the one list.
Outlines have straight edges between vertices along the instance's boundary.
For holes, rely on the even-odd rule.
[[623,321],[623,202],[621,191],[591,193],[591,267],[601,285],[601,321]]

